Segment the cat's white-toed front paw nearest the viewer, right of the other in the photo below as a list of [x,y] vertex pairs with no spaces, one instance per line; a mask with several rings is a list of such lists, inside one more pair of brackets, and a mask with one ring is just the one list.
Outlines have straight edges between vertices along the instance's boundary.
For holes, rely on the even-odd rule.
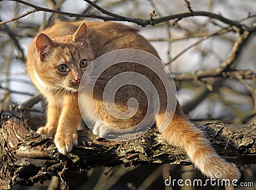
[[78,144],[76,133],[56,133],[54,142],[61,154],[70,152],[74,145]]

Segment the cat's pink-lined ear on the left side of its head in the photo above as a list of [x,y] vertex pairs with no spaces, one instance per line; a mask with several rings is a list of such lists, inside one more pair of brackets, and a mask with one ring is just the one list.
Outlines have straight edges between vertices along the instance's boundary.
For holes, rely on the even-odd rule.
[[36,38],[36,54],[41,61],[49,56],[52,50],[56,47],[54,42],[46,34],[41,33]]

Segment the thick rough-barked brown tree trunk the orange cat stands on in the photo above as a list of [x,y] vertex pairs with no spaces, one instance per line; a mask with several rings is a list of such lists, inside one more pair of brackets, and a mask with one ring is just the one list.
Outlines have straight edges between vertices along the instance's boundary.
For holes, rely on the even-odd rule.
[[[28,118],[29,112],[19,110],[17,105],[1,112],[0,189],[10,189],[13,184],[33,185],[51,176],[58,176],[65,183],[67,168],[81,172],[117,164],[191,164],[184,150],[168,145],[154,129],[140,138],[119,143],[97,138],[88,130],[79,131],[79,145],[64,156],[54,145],[54,135],[38,135],[31,129],[42,121]],[[237,165],[256,163],[255,124],[197,126],[227,161]]]

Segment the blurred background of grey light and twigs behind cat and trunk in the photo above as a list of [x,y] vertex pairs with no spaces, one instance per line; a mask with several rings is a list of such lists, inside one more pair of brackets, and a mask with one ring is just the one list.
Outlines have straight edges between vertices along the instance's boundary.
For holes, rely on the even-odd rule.
[[[82,0],[33,0],[27,1],[37,6],[70,13],[95,13],[102,15]],[[125,17],[149,19],[152,10],[156,18],[188,12],[181,0],[95,0],[100,7]],[[193,11],[209,11],[220,14],[240,24],[252,27],[256,24],[255,0],[191,0]],[[0,2],[0,22],[26,13],[33,8],[14,1]],[[26,74],[28,47],[38,31],[61,20],[81,20],[84,18],[63,15],[32,13],[26,17],[0,25],[0,110],[11,103],[19,105],[35,95],[36,89]],[[88,20],[92,20],[91,18]],[[99,19],[94,19],[101,21]],[[178,21],[178,22],[177,22]],[[173,75],[218,68],[228,59],[228,54],[237,39],[234,31],[227,30],[223,22],[209,17],[188,17],[170,20],[156,26],[140,27],[130,22],[124,24],[140,29],[156,48],[164,64]],[[256,71],[255,34],[243,45],[232,69]],[[205,77],[200,80],[177,80],[177,96],[188,115],[195,122],[227,122],[236,124],[256,121],[255,78]],[[42,104],[34,106],[35,112],[45,111]],[[243,181],[255,182],[255,166],[242,166]],[[164,179],[172,173],[173,178],[191,179],[201,177],[192,166],[143,165],[131,168],[93,168],[87,173],[74,174],[76,181],[72,189],[204,189],[203,187],[164,187]],[[52,179],[43,185],[33,187],[15,186],[13,189],[51,189]],[[57,180],[58,181],[58,180]],[[76,184],[76,185],[74,185]],[[225,187],[207,187],[225,189]],[[226,187],[226,189],[233,187]],[[236,189],[256,189],[236,187]]]

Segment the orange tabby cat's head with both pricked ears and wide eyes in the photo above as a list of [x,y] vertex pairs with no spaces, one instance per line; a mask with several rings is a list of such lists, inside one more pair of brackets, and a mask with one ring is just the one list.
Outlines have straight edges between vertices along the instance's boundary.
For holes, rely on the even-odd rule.
[[72,35],[36,37],[36,73],[49,89],[77,92],[81,77],[93,61],[87,26]]

